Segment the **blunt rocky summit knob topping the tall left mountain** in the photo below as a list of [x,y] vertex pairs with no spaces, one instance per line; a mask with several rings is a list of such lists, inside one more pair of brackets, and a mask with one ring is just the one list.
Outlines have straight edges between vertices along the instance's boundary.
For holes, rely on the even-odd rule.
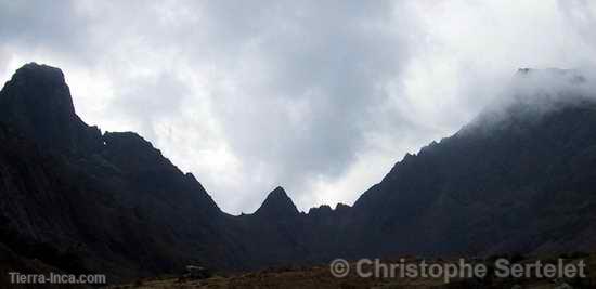
[[62,70],[29,63],[0,91],[0,122],[43,147],[83,152],[101,145],[98,128],[75,114]]

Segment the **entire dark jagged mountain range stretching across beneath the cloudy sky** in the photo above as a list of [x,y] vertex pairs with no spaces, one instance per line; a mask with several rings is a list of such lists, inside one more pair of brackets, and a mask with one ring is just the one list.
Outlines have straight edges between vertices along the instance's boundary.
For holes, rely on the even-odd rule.
[[28,64],[0,92],[0,245],[116,279],[187,263],[589,249],[596,106],[578,97],[540,115],[518,101],[487,111],[406,155],[353,207],[301,213],[277,187],[254,214],[232,216],[138,134],[80,120],[60,69]]

